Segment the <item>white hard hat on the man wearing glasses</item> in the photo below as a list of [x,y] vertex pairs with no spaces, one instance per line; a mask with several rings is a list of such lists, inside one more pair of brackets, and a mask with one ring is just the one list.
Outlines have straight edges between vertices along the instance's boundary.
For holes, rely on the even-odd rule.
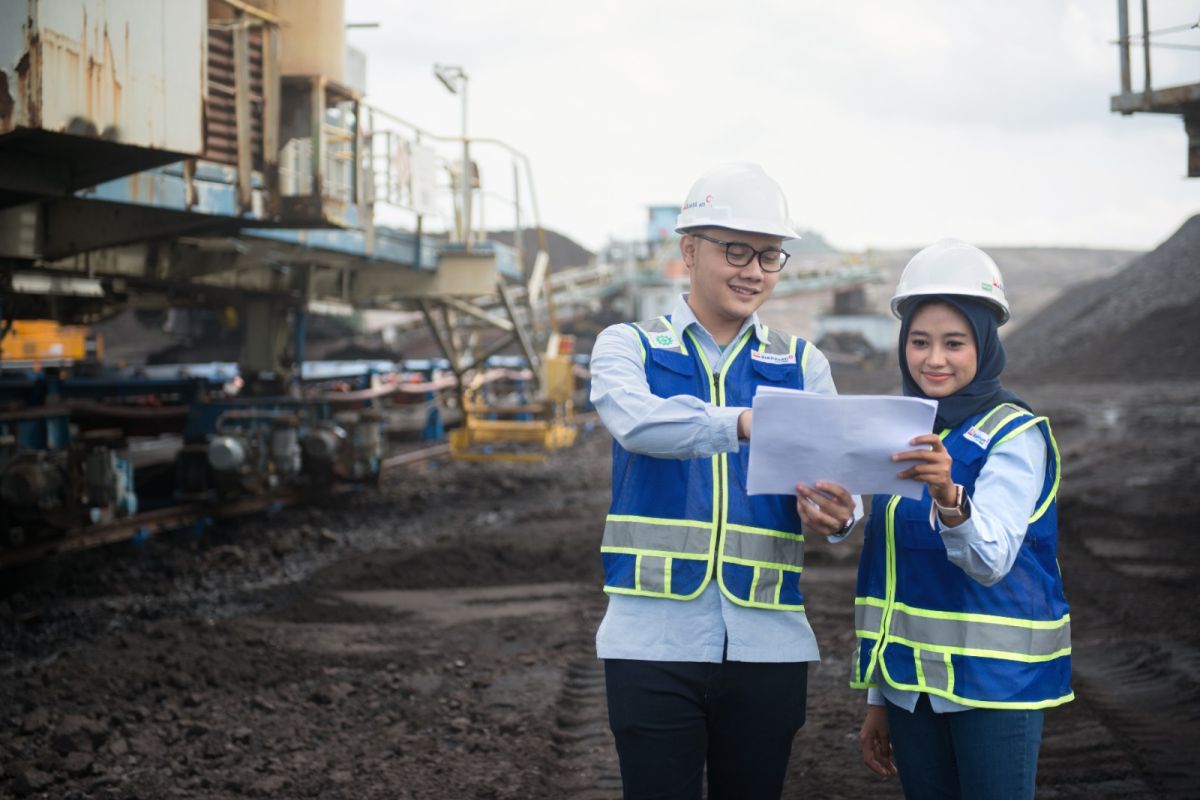
[[787,219],[787,198],[758,164],[722,164],[696,181],[676,218],[676,233],[728,228],[799,239]]

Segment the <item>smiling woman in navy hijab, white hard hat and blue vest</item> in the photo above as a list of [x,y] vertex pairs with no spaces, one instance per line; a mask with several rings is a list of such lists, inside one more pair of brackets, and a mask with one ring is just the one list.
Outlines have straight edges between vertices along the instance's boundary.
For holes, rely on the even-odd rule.
[[852,686],[869,688],[863,760],[906,798],[1032,798],[1043,709],[1073,699],[1057,549],[1058,450],[1045,417],[1001,385],[1000,270],[943,240],[905,267],[904,393],[937,401],[866,527]]

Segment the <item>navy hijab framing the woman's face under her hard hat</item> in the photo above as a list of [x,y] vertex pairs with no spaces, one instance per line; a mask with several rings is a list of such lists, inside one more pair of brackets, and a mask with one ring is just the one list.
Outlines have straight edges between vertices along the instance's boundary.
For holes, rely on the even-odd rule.
[[[929,397],[920,390],[920,386],[908,373],[908,359],[905,356],[905,344],[908,341],[908,327],[912,325],[912,318],[917,314],[918,308],[934,300],[956,308],[966,317],[976,337],[974,379],[949,397],[938,398]],[[996,314],[988,303],[965,295],[936,294],[923,295],[905,308],[904,318],[900,321],[900,380],[907,397],[937,401],[937,417],[934,420],[935,431],[956,428],[976,414],[1001,403],[1016,403],[1021,408],[1032,410],[1028,403],[1001,385],[1000,373],[1004,371],[1004,345],[1000,343]]]

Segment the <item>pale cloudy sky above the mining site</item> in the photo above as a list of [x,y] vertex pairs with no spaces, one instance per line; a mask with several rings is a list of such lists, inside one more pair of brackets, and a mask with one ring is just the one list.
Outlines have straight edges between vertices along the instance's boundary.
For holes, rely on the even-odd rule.
[[[1182,118],[1109,110],[1112,0],[346,0],[346,18],[379,23],[347,31],[370,103],[458,136],[433,65],[461,66],[468,136],[523,152],[542,224],[593,249],[644,237],[647,206],[733,161],[842,249],[1147,249],[1200,213]],[[1151,1],[1151,30],[1198,19]],[[1156,41],[1198,49],[1152,48],[1154,88],[1200,83],[1200,30]],[[508,156],[486,150],[484,185],[511,197]],[[511,218],[488,203],[487,227]]]

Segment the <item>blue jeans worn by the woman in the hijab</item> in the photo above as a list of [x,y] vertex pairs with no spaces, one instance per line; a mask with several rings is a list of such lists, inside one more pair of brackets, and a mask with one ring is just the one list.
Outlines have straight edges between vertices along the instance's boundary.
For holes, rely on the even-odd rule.
[[908,800],[1033,798],[1043,711],[913,712],[887,704],[892,751]]

